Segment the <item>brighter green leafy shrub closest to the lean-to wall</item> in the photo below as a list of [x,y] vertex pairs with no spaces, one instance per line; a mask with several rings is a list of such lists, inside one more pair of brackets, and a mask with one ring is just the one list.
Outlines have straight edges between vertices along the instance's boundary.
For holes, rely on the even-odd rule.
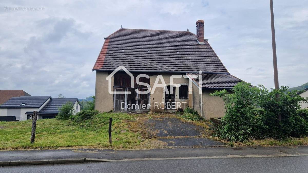
[[222,118],[219,129],[223,139],[231,141],[246,140],[251,136],[251,121],[259,90],[250,84],[240,82],[231,90],[215,91],[213,96],[221,97],[225,102],[226,115]]

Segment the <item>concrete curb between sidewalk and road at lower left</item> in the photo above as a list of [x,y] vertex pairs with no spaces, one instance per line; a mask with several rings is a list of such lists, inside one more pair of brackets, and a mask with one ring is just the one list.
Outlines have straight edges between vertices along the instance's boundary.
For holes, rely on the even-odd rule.
[[49,159],[49,160],[14,160],[14,161],[0,161],[0,167],[3,167],[3,166],[20,166],[20,165],[63,164],[63,163],[110,162],[110,161],[114,161],[114,160],[92,159],[92,158]]

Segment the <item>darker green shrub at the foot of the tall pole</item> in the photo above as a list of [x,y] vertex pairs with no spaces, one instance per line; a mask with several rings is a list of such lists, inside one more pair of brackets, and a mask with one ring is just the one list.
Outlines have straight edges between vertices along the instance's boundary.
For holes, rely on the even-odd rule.
[[[305,120],[302,121],[298,117],[300,110],[300,102],[304,99],[297,95],[297,91],[288,92],[289,88],[281,86],[279,90],[269,91],[262,85],[259,85],[260,95],[257,100],[258,106],[262,107],[266,115],[264,124],[268,127],[265,137],[285,138],[293,135],[294,137],[301,136],[304,131],[298,131],[298,125],[305,126]],[[277,97],[279,95],[279,97]],[[278,120],[281,115],[282,121]],[[304,129],[304,127],[302,127]]]

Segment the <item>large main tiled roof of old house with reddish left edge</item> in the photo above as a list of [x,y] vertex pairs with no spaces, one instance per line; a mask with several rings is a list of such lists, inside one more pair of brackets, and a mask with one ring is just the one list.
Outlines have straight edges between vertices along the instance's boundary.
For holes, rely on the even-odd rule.
[[189,31],[120,29],[105,39],[93,70],[228,73],[209,45]]

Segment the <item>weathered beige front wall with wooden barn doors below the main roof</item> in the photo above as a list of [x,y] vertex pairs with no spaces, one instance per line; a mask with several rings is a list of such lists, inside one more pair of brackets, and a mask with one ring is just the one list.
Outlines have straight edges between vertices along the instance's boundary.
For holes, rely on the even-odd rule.
[[[191,95],[188,93],[188,78],[174,78],[173,79],[173,93],[165,94],[165,87],[156,87],[155,92],[153,94],[148,93],[145,95],[138,95],[134,92],[135,89],[139,90],[148,90],[147,87],[138,86],[135,84],[134,88],[131,88],[130,81],[127,80],[129,78],[128,75],[125,74],[115,74],[111,77],[111,87],[112,91],[131,91],[132,94],[124,94],[124,95],[112,95],[108,92],[108,72],[97,71],[96,72],[96,85],[95,85],[95,109],[101,112],[108,111],[122,111],[122,112],[148,112],[148,111],[176,111],[178,108],[184,109],[188,107],[190,104]],[[150,85],[150,88],[153,89],[155,80],[159,74],[147,74],[150,76],[148,80],[144,78],[142,81],[140,78],[140,82],[145,82]],[[167,86],[168,91],[170,90],[170,76],[172,74],[162,73],[165,84]],[[126,77],[124,77],[126,76]],[[136,76],[136,75],[135,75]],[[125,81],[121,83],[120,81]],[[162,84],[161,81],[158,84]],[[175,85],[181,85],[180,87],[176,87]],[[181,92],[180,92],[181,91]],[[184,93],[186,92],[186,93]],[[173,102],[171,108],[168,109],[166,104],[170,100]],[[112,101],[112,102],[110,102]],[[125,107],[126,104],[136,104],[139,105],[139,109],[128,109],[124,110],[122,107]],[[143,108],[143,105],[147,105],[146,108]],[[166,108],[165,108],[166,107]]]

